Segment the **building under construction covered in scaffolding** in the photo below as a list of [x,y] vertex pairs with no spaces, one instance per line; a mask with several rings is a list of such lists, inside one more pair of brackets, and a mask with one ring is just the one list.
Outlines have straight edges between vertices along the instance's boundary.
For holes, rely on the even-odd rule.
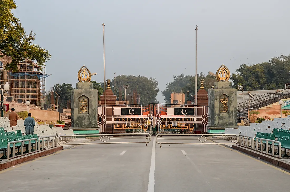
[[0,58],[0,81],[1,86],[8,82],[10,89],[8,97],[14,100],[21,99],[22,102],[30,101],[31,104],[44,107],[45,98],[45,66],[39,67],[37,63],[25,59],[17,65],[18,71],[4,70],[6,64],[11,62],[11,58],[4,56]]

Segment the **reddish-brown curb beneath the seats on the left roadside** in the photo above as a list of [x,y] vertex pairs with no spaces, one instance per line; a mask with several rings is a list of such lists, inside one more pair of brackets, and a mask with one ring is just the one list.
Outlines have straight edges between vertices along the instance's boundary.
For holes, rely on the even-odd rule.
[[42,156],[45,156],[45,155],[50,155],[52,153],[55,153],[56,151],[62,150],[62,148],[63,148],[62,146],[56,146],[56,147],[49,148],[49,149],[46,149],[46,150],[43,150],[43,151],[38,151],[38,152],[32,153],[30,155],[25,155],[25,156],[22,156],[22,157],[17,157],[15,159],[8,160],[7,162],[3,162],[3,163],[0,164],[0,171],[3,170],[3,169],[7,169],[7,168],[9,168],[11,166],[15,166],[15,165],[21,164],[23,162],[36,159],[38,157],[42,157]]

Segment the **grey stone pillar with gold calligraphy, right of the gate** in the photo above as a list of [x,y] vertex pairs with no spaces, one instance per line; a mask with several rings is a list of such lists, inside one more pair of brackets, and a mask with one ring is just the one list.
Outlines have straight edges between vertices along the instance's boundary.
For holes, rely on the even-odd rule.
[[214,88],[209,89],[209,129],[237,128],[237,106],[238,92],[231,88],[231,82],[214,82]]

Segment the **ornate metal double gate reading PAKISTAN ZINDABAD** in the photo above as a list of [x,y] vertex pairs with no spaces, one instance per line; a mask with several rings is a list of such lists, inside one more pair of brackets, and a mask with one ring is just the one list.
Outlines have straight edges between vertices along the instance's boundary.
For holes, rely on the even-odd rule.
[[132,104],[98,106],[100,133],[206,133],[208,106]]

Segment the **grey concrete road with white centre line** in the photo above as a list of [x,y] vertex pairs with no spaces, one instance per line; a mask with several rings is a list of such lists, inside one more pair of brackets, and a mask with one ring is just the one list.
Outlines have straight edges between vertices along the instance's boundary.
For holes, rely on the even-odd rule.
[[147,147],[78,145],[0,171],[0,191],[285,192],[289,180],[289,172],[222,145],[160,148],[152,137]]

